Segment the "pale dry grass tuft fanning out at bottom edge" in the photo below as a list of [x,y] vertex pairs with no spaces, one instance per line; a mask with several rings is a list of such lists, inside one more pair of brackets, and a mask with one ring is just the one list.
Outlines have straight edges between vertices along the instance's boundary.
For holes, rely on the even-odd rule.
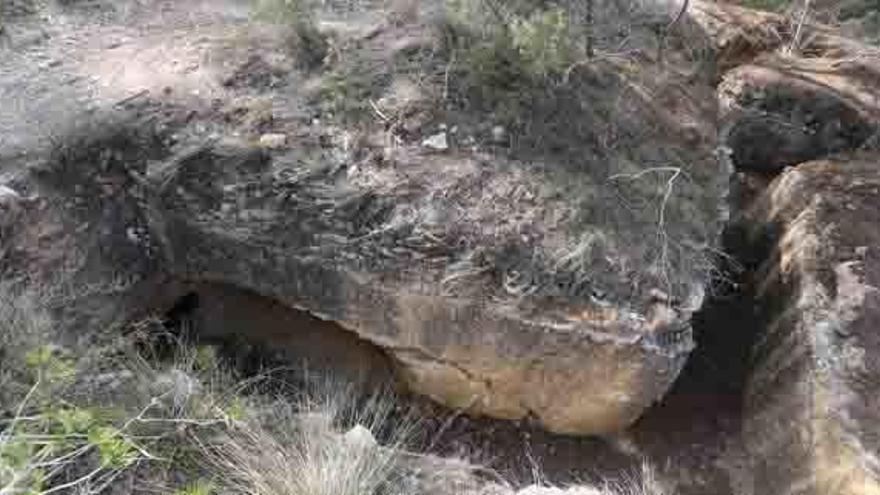
[[[350,389],[330,391],[276,403],[206,447],[219,484],[259,495],[403,493],[400,456],[412,423],[380,446],[372,431],[384,428],[392,403],[376,396],[353,411],[345,404]],[[355,426],[346,434],[344,424]]]

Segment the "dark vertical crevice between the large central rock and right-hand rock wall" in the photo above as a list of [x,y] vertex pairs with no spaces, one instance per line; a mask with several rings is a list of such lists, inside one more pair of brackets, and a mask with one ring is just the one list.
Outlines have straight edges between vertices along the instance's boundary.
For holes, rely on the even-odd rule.
[[705,473],[704,486],[681,493],[735,493],[738,481],[731,473],[738,468],[731,459],[744,456],[740,439],[746,394],[755,346],[766,326],[755,280],[776,235],[745,220],[746,207],[763,188],[739,179],[732,180],[732,219],[722,234],[727,257],[717,260],[722,275],[692,320],[696,348],[670,392],[633,427],[649,458]]

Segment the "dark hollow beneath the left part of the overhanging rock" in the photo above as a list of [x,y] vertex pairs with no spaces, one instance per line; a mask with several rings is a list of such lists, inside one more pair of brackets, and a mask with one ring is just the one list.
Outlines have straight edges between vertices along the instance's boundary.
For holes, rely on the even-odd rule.
[[272,370],[276,382],[314,374],[364,387],[393,387],[385,352],[336,322],[231,285],[184,286],[162,317],[170,339],[214,347],[245,377]]

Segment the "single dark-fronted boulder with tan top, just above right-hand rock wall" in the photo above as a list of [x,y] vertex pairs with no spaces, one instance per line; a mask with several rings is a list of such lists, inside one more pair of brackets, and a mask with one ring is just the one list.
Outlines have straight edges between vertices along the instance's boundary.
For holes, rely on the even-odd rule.
[[880,52],[767,54],[725,74],[723,139],[739,170],[778,172],[870,146],[880,131]]

